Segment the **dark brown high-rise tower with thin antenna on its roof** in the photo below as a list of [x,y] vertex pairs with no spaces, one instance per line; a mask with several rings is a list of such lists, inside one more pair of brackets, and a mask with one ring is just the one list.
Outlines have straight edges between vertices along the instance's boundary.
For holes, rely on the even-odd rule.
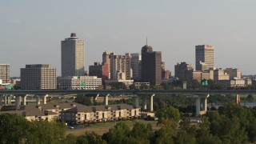
[[162,80],[162,54],[161,51],[153,51],[151,46],[142,47],[142,82],[150,82],[150,85],[160,85]]

